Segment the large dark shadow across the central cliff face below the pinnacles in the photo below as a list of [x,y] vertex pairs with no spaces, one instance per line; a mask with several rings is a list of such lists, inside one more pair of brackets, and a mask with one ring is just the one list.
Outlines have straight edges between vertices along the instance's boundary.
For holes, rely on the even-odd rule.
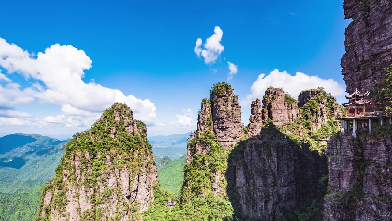
[[327,158],[307,144],[300,148],[272,123],[260,134],[262,140],[243,140],[229,155],[233,220],[323,220]]

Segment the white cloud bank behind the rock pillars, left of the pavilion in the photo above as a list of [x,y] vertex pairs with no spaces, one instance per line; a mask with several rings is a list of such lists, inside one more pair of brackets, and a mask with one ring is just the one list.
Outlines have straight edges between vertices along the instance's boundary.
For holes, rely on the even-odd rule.
[[327,92],[331,92],[333,96],[341,97],[345,92],[345,87],[340,85],[333,79],[322,79],[318,76],[309,76],[302,72],[297,72],[294,76],[286,71],[279,72],[278,69],[273,70],[269,75],[260,74],[253,83],[250,90],[252,94],[247,95],[243,100],[243,107],[250,107],[252,100],[262,99],[267,87],[283,88],[294,98],[298,98],[299,92],[307,89],[323,87]]

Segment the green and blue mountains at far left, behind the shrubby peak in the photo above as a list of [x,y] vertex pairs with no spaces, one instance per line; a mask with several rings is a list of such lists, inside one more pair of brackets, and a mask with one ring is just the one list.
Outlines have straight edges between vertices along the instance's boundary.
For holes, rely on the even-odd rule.
[[39,134],[0,137],[0,220],[35,217],[41,187],[53,178],[67,142]]

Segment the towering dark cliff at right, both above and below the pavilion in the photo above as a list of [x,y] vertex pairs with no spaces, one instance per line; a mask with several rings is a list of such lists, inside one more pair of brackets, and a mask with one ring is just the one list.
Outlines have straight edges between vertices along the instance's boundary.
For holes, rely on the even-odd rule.
[[[346,92],[372,91],[392,63],[392,2],[345,0],[343,8],[345,18],[353,19],[345,31],[346,53],[341,63]],[[326,220],[392,220],[392,140],[390,125],[383,126],[381,130],[376,126],[370,134],[367,129],[359,131],[357,138],[340,134],[328,142]]]

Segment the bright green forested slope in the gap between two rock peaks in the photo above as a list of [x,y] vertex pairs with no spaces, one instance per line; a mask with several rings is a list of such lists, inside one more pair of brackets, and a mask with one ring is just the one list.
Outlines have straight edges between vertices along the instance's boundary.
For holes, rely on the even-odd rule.
[[183,155],[179,159],[168,161],[163,167],[158,167],[158,180],[162,189],[180,194],[186,160],[187,155]]

